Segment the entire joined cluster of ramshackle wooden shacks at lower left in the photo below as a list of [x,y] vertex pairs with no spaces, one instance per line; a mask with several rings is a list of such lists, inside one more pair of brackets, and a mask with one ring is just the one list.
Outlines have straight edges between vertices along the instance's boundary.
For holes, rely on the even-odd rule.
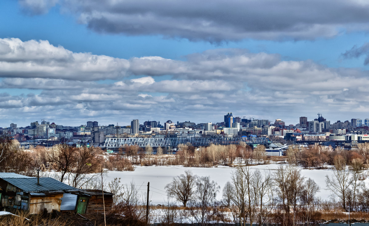
[[[106,212],[111,211],[113,195],[104,191]],[[0,173],[0,211],[16,209],[30,214],[44,211],[103,213],[103,191],[77,189],[51,177]]]

